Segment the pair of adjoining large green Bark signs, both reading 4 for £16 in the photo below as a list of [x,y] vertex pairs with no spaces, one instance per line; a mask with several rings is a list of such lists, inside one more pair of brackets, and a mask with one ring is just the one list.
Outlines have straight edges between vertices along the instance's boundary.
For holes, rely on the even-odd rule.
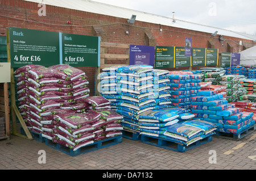
[[100,65],[100,37],[10,27],[9,39],[11,68]]

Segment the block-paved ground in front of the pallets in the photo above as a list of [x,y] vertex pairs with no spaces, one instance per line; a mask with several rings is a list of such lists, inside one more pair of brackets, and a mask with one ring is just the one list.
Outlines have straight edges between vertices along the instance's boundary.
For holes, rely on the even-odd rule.
[[[39,163],[39,150],[46,163]],[[210,150],[216,151],[216,163]],[[210,159],[209,159],[210,158]],[[212,163],[209,163],[209,160]],[[45,143],[11,136],[0,140],[1,170],[255,170],[256,131],[239,141],[213,137],[184,153],[123,138],[107,148],[71,157]]]

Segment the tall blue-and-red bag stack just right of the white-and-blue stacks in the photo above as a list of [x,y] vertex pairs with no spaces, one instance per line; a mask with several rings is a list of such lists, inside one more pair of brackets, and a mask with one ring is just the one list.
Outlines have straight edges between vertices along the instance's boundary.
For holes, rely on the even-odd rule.
[[200,75],[190,71],[170,71],[171,102],[173,107],[190,109],[192,97],[201,89]]

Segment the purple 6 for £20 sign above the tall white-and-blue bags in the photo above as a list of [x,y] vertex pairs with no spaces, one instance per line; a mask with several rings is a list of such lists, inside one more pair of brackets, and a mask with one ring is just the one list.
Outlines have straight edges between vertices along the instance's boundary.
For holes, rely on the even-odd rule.
[[143,45],[130,45],[129,65],[154,66],[155,47]]

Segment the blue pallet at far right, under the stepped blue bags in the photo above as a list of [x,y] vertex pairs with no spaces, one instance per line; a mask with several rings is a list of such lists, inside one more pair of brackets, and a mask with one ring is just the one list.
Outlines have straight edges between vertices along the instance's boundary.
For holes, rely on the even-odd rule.
[[241,140],[242,138],[246,137],[248,134],[251,134],[255,130],[256,130],[256,124],[251,125],[250,127],[244,129],[239,133],[225,133],[225,132],[216,131],[215,136],[220,138],[230,139],[230,140]]

